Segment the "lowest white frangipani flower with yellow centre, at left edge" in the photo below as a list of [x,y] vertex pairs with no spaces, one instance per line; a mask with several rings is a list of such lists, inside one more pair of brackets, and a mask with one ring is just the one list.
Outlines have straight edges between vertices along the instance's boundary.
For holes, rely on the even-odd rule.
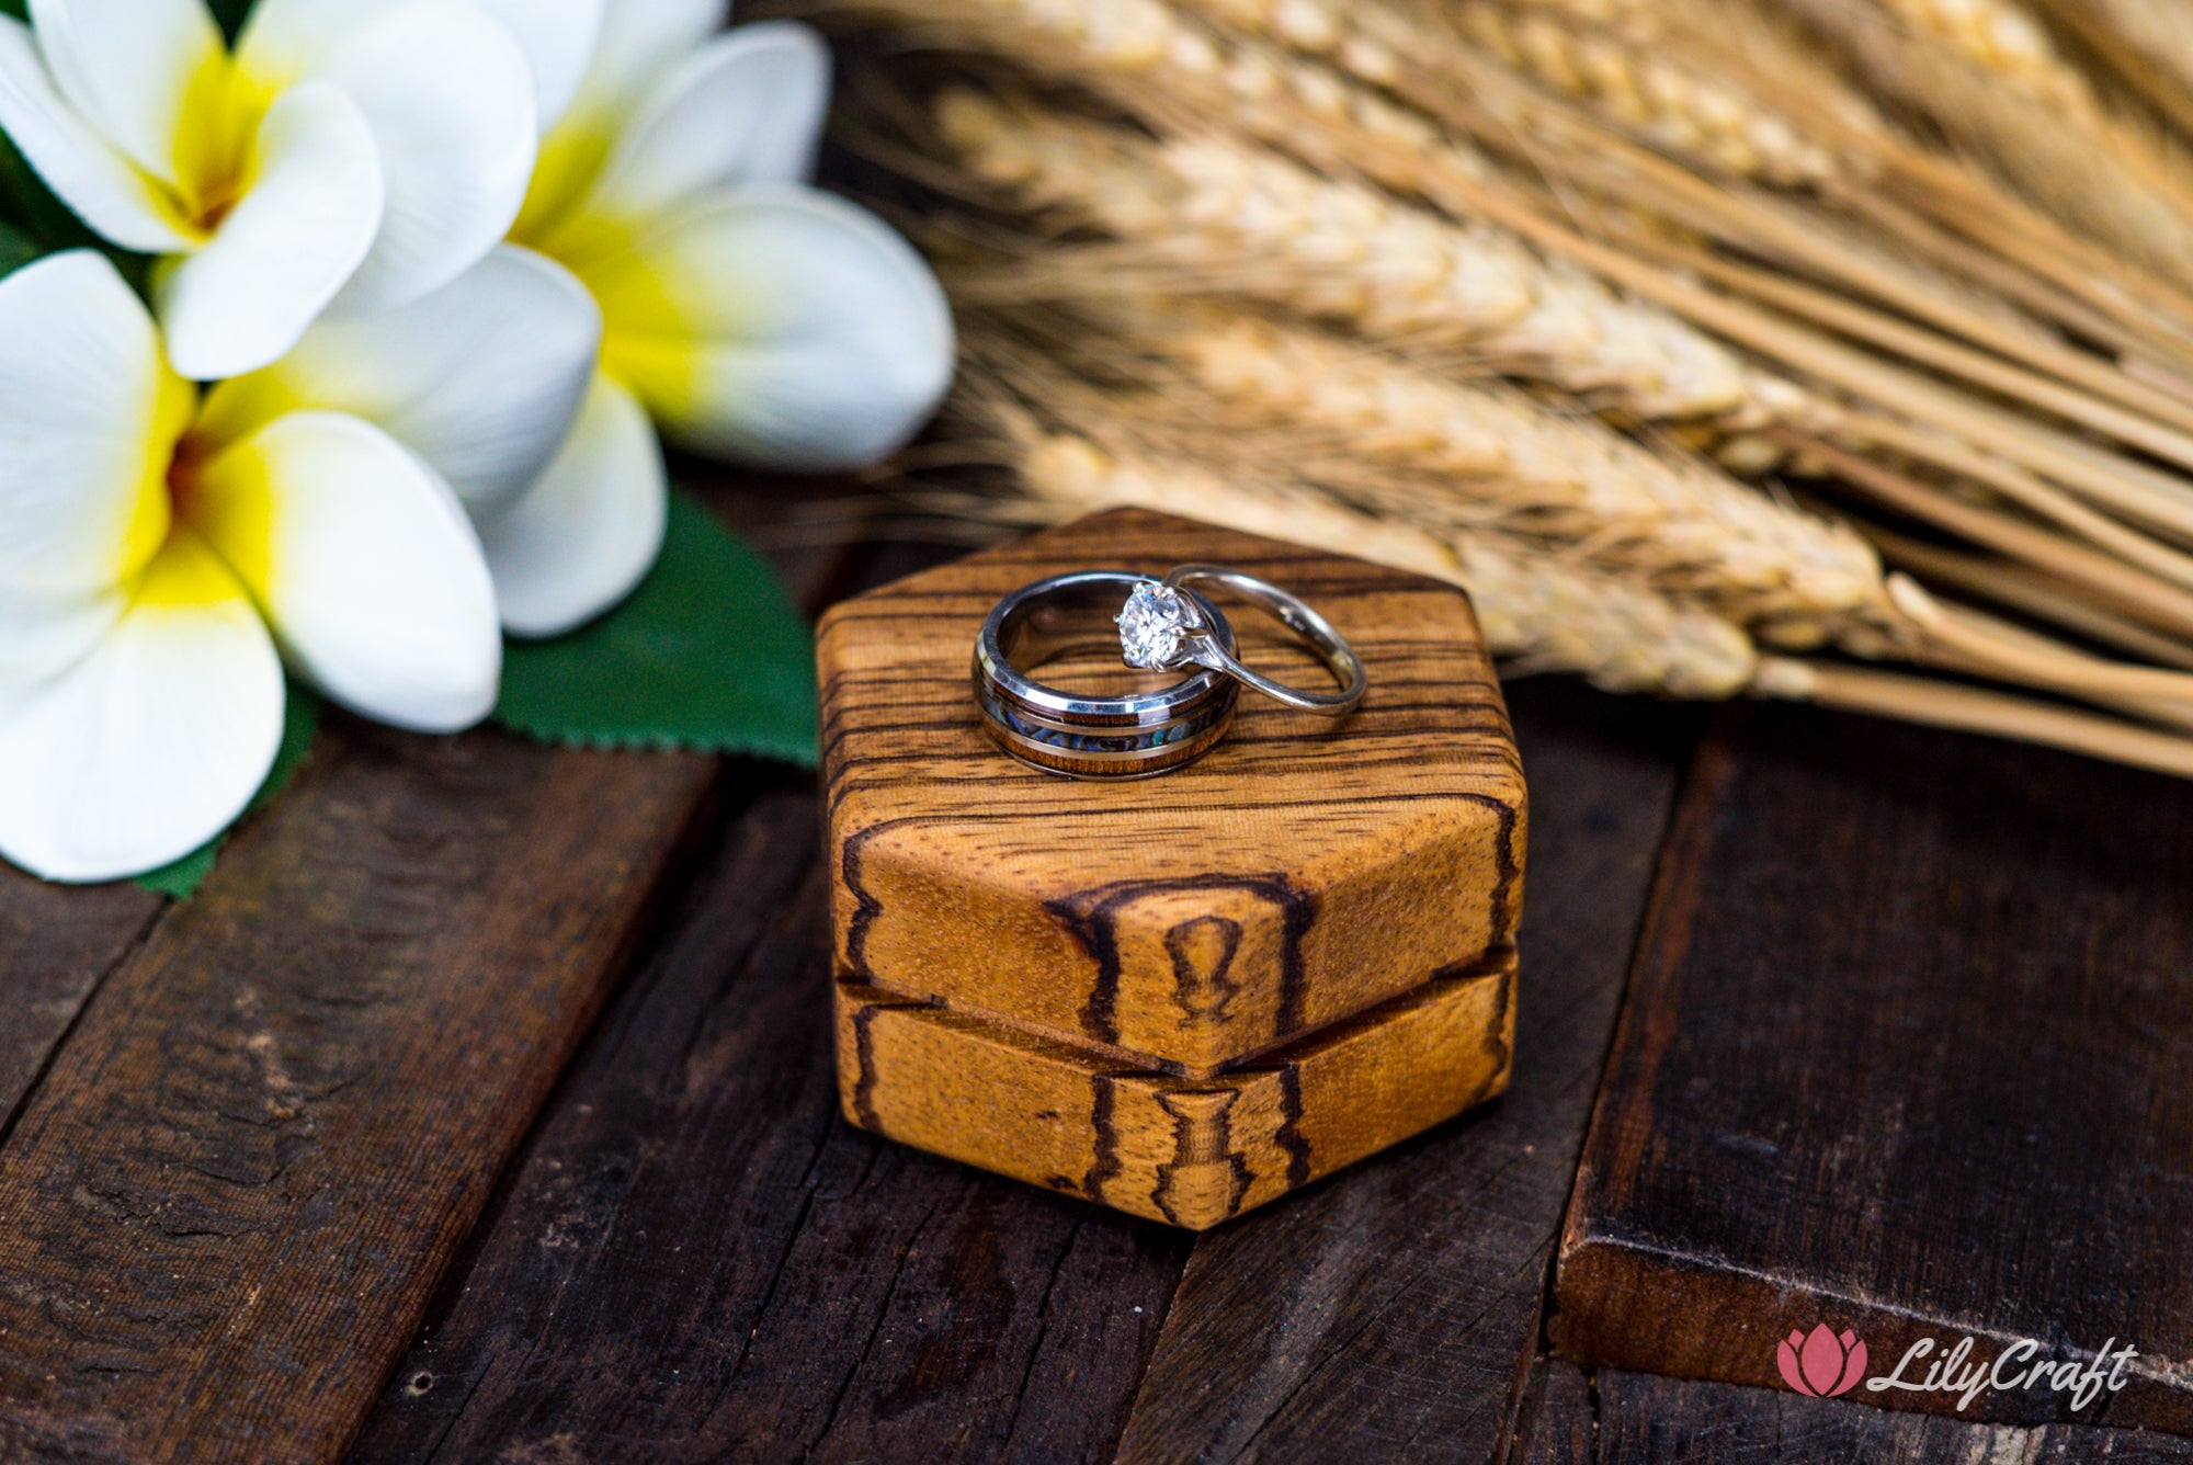
[[200,395],[103,257],[0,281],[0,855],[112,879],[219,833],[272,763],[283,660],[395,726],[485,717],[502,634],[465,509],[533,568],[596,347],[568,274],[496,250]]

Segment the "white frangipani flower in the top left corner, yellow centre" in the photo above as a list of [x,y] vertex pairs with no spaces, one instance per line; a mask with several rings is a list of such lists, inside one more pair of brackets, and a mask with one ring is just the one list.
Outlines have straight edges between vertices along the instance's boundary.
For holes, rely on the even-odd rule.
[[599,0],[261,0],[230,53],[204,0],[31,0],[0,20],[0,127],[160,257],[169,360],[211,382],[478,263],[596,24]]

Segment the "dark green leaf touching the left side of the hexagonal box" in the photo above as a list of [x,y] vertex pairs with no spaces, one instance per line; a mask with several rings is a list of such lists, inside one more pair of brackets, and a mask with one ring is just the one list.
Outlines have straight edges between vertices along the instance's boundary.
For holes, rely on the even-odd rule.
[[588,748],[700,748],[814,768],[814,636],[776,572],[671,496],[662,559],[623,605],[502,662],[507,728]]

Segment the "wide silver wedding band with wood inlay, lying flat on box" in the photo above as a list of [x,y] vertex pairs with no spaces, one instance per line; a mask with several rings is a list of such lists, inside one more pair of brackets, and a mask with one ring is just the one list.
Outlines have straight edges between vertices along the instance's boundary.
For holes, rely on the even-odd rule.
[[[1072,779],[1147,779],[1195,761],[1226,737],[1239,682],[1217,669],[1103,697],[1031,675],[1072,651],[1118,651],[1107,623],[1147,583],[1127,570],[1081,570],[998,601],[976,638],[974,693],[982,726],[1004,752]],[[1202,638],[1230,656],[1235,634],[1224,612],[1193,590],[1184,594]]]

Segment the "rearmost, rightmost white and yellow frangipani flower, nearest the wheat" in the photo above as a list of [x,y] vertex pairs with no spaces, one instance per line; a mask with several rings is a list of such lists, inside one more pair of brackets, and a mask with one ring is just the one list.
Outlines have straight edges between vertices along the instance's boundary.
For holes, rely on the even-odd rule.
[[634,399],[689,447],[827,469],[897,450],[952,379],[952,316],[921,257],[800,182],[827,48],[794,22],[724,20],[721,0],[607,4],[511,232],[603,311],[605,379],[559,465],[572,513],[660,496]]

